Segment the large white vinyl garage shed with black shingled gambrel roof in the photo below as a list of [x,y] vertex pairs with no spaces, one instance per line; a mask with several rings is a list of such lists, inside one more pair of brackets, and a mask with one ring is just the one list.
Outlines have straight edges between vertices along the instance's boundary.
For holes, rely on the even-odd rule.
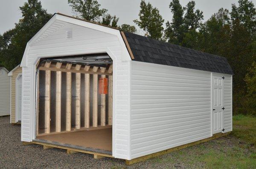
[[20,66],[24,142],[132,160],[232,131],[224,57],[54,14]]

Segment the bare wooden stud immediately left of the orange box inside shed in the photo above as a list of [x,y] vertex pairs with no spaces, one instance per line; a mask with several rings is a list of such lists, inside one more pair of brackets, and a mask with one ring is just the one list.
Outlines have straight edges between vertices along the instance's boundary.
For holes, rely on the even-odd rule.
[[93,127],[98,126],[98,74],[93,74]]

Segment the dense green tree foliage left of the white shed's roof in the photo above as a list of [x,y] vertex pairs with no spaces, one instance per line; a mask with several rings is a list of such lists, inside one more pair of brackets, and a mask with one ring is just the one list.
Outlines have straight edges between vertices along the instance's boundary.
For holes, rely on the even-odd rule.
[[15,29],[0,36],[0,62],[8,70],[20,64],[26,43],[52,16],[42,9],[41,2],[38,0],[28,0],[20,10],[22,19],[15,24]]

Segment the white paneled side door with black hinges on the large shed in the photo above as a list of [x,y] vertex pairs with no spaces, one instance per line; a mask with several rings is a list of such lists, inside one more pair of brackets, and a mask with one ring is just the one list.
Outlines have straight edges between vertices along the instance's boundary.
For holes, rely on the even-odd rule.
[[212,134],[223,130],[223,80],[212,75]]

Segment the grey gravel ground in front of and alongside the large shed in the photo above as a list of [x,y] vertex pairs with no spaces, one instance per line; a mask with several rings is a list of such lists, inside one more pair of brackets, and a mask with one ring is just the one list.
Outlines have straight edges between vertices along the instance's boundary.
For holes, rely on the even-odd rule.
[[[0,168],[205,168],[205,163],[191,157],[200,157],[208,150],[223,152],[241,144],[235,137],[223,137],[176,151],[158,158],[126,166],[124,160],[94,159],[84,153],[67,154],[62,149],[46,149],[40,145],[23,146],[20,126],[12,126],[9,117],[0,117]],[[244,150],[247,153],[247,150]]]

